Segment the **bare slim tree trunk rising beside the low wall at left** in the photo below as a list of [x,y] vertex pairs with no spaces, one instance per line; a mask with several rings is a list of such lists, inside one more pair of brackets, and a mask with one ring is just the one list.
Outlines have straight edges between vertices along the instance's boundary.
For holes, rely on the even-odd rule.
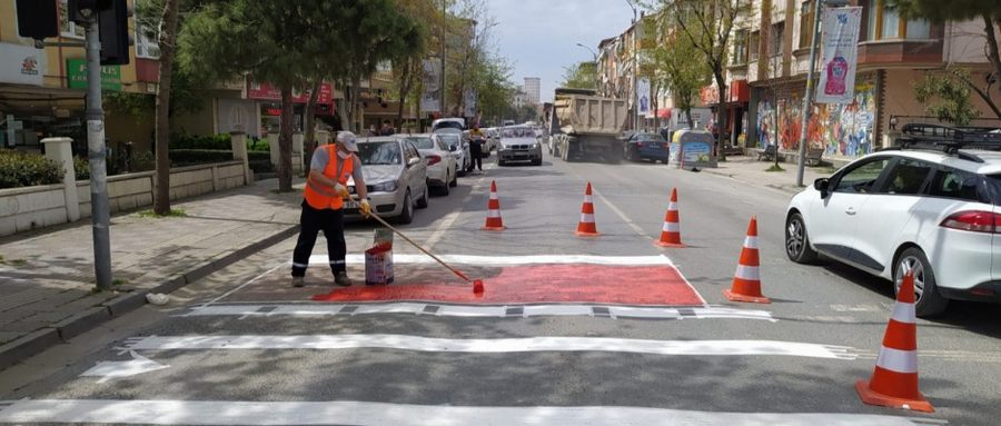
[[157,194],[153,198],[153,214],[170,214],[170,79],[174,70],[175,41],[177,39],[177,9],[179,0],[167,0],[160,17],[160,63],[157,85]]

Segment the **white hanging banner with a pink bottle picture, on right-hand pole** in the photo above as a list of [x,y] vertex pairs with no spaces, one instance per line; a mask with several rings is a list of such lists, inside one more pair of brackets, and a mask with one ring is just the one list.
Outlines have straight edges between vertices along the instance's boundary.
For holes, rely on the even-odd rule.
[[824,9],[823,57],[816,85],[817,103],[851,103],[855,97],[859,28],[862,8]]

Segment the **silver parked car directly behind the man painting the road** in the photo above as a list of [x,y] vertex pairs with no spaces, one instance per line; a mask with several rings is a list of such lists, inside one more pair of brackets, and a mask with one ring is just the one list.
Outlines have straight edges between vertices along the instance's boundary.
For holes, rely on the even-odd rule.
[[[427,207],[427,164],[413,142],[392,136],[359,139],[358,157],[371,211],[409,224],[414,207]],[[345,204],[345,217],[358,218],[354,178],[348,179],[348,191],[351,200]]]

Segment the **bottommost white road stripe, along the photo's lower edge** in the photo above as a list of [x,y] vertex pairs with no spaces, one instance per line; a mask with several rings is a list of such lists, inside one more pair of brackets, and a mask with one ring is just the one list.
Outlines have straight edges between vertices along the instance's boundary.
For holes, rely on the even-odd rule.
[[428,406],[364,402],[18,400],[0,408],[3,423],[149,425],[726,425],[918,426],[944,420],[843,413],[725,413],[584,407]]

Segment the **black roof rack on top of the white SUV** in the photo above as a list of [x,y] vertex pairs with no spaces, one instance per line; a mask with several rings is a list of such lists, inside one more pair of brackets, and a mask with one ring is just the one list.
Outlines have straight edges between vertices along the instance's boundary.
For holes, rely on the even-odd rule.
[[935,149],[977,162],[983,160],[960,149],[1001,150],[1001,128],[908,123],[900,132],[896,149]]

